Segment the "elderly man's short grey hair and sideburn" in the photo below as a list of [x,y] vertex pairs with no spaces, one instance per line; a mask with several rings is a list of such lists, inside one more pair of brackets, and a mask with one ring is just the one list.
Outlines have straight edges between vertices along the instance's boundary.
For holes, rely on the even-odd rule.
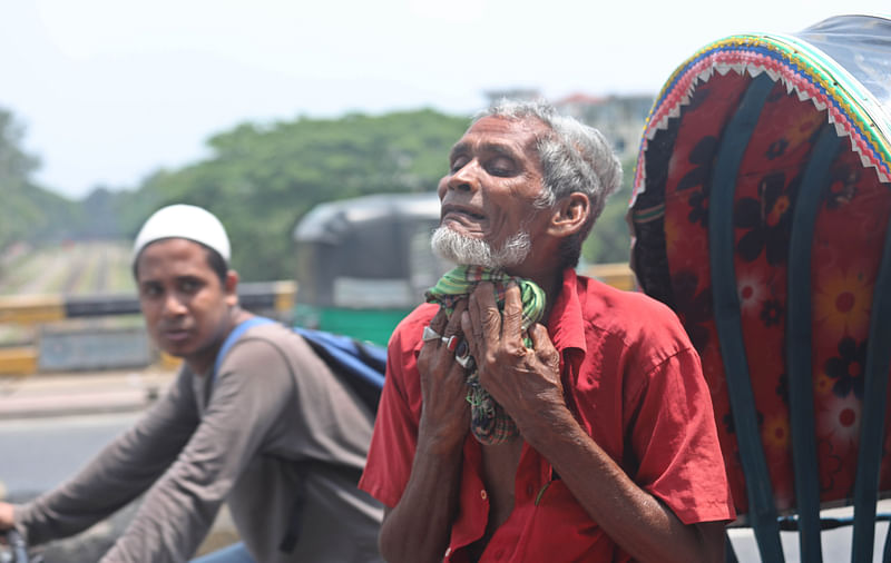
[[536,149],[542,169],[542,190],[536,207],[547,209],[564,197],[580,191],[590,200],[588,220],[576,235],[569,237],[562,248],[567,266],[578,264],[581,244],[600,216],[606,199],[621,186],[621,162],[606,138],[595,129],[576,119],[560,116],[549,103],[542,101],[513,101],[502,99],[476,116],[511,120],[538,119],[551,135],[538,139]]

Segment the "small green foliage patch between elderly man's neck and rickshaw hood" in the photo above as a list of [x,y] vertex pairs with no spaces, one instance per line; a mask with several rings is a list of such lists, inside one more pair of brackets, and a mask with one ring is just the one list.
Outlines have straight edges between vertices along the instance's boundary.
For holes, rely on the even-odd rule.
[[621,188],[607,200],[604,213],[594,224],[590,235],[581,247],[581,257],[586,264],[628,261],[630,235],[625,215],[628,213],[628,203],[631,199],[634,166],[634,158],[621,164],[625,172]]

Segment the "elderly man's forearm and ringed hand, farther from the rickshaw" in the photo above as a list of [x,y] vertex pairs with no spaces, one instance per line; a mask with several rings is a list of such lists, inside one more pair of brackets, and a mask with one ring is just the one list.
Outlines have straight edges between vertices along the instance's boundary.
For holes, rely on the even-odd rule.
[[[460,334],[461,302],[451,318],[430,322],[437,333]],[[381,555],[391,562],[442,561],[458,510],[462,447],[470,427],[464,371],[441,340],[424,343],[418,357],[423,409],[411,476],[381,526]]]

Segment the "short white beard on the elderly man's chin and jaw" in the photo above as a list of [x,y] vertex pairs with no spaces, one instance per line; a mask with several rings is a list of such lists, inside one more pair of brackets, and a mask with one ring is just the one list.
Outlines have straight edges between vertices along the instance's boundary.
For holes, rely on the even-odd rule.
[[449,227],[437,227],[430,246],[439,257],[462,266],[508,268],[522,264],[531,251],[529,233],[521,230],[505,241],[498,250],[486,240],[461,235]]

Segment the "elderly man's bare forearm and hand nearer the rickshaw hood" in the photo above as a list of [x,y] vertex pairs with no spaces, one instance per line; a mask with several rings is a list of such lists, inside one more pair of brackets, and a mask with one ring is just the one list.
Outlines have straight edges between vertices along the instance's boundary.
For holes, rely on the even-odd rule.
[[503,315],[493,292],[480,284],[462,320],[478,358],[480,382],[544,455],[591,518],[638,561],[722,561],[723,523],[685,525],[640,488],[585,432],[564,399],[559,355],[547,329],[521,335],[519,289],[508,288]]

